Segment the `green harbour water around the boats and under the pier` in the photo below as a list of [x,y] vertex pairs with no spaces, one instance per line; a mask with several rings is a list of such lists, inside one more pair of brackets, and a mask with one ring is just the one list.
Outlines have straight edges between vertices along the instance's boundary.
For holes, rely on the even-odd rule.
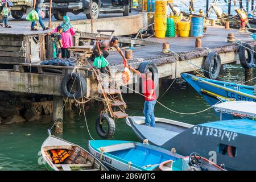
[[[254,76],[256,76],[254,74]],[[244,80],[244,70],[241,67],[225,66],[225,77],[234,82]],[[256,84],[256,82],[255,82]],[[168,87],[168,85],[167,85]],[[165,89],[160,90],[160,95]],[[143,98],[138,94],[125,94],[127,102],[127,113],[130,115],[142,115]],[[164,105],[181,112],[193,113],[204,110],[209,105],[189,86],[182,78],[179,78],[171,87],[169,92],[160,100]],[[94,129],[94,121],[100,110],[97,106],[86,111],[86,118],[90,133],[94,139],[100,139]],[[160,105],[155,107],[155,116],[175,119],[177,121],[191,123],[193,125],[208,121],[218,120],[213,110],[205,111],[196,115],[180,115],[170,113]],[[38,164],[40,147],[47,138],[47,129],[52,126],[51,116],[46,116],[42,121],[25,122],[14,125],[0,125],[0,170],[45,170],[44,166]],[[77,111],[64,113],[64,134],[62,137],[70,142],[87,147],[89,140],[85,119]],[[113,139],[138,141],[136,135],[129,126],[119,119],[116,122],[116,131]]]

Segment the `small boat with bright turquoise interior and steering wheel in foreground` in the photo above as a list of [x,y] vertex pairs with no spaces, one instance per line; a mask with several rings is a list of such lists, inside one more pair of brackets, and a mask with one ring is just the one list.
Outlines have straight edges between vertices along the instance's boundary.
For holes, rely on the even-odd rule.
[[[90,152],[102,163],[121,171],[158,171],[161,163],[161,169],[164,171],[222,170],[216,164],[210,164],[209,160],[201,158],[199,154],[184,157],[176,154],[174,149],[165,150],[145,141],[139,143],[121,140],[90,140],[88,146]],[[193,160],[193,158],[199,160]]]

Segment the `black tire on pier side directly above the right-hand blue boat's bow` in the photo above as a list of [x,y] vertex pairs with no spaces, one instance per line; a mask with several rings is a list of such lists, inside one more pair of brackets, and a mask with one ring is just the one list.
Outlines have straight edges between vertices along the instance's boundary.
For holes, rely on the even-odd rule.
[[210,52],[204,61],[204,76],[216,80],[221,71],[221,58],[217,52]]

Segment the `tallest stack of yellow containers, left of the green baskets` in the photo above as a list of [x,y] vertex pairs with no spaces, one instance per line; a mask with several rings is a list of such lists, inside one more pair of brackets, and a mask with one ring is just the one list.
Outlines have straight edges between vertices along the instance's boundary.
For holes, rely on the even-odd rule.
[[155,37],[164,38],[167,28],[167,1],[155,0]]

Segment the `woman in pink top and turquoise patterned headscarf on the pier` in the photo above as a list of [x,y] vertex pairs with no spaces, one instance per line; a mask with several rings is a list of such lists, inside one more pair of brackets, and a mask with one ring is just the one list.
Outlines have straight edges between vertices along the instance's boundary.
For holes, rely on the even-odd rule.
[[[61,57],[69,58],[70,53],[68,48],[73,46],[72,36],[75,35],[76,32],[73,30],[68,16],[63,17],[63,23],[61,23],[60,26],[63,28],[63,32],[61,33],[61,40],[63,44],[63,47],[61,48]],[[57,28],[52,32],[57,32]]]

